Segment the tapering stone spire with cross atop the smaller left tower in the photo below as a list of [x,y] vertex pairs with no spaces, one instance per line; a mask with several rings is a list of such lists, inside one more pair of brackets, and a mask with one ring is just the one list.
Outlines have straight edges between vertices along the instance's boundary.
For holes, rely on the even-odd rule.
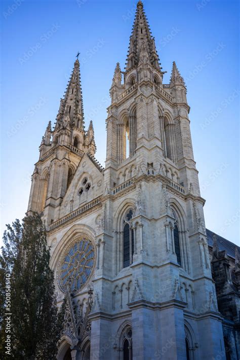
[[78,59],[74,62],[64,98],[60,102],[55,130],[66,120],[71,128],[84,130],[83,96]]

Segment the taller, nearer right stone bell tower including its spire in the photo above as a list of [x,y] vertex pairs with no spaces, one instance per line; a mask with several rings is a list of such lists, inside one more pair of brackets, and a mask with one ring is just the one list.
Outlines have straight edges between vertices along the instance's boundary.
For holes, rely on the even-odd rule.
[[[169,339],[175,345],[163,358],[215,357],[224,343],[187,90],[175,62],[169,84],[163,83],[164,74],[139,1],[125,71],[119,63],[115,67],[106,120],[104,199],[115,240],[114,245],[105,240],[106,251],[114,253],[105,275],[114,271],[113,289],[121,297],[118,278],[133,281],[135,295],[127,306],[134,359],[162,358]],[[128,206],[131,215],[121,218],[119,209]],[[130,216],[127,253],[125,224]],[[115,304],[119,295],[113,293]]]

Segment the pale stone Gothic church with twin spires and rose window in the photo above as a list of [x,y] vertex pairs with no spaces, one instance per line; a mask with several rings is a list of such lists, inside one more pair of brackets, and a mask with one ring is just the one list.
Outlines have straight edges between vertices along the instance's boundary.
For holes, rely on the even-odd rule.
[[226,358],[186,86],[175,62],[163,78],[139,1],[110,88],[105,168],[93,123],[85,130],[78,59],[43,136],[28,213],[46,223],[67,300],[59,360]]

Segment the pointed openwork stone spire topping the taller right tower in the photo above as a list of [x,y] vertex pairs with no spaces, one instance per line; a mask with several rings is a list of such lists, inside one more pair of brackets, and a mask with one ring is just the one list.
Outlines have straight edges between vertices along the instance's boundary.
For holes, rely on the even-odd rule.
[[161,63],[158,62],[159,58],[156,52],[155,41],[151,35],[149,24],[143,10],[143,3],[139,1],[137,4],[137,11],[132,34],[130,37],[130,45],[126,62],[126,73],[130,69],[138,66],[143,43],[148,53],[151,65],[155,69],[161,71],[162,68],[160,67]]

